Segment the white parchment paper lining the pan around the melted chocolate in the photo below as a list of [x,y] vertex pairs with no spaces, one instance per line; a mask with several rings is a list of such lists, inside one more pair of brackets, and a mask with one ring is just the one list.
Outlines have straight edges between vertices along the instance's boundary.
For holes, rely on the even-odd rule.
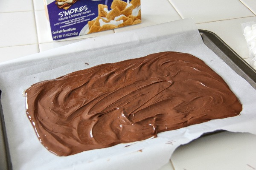
[[[204,60],[238,96],[243,104],[241,115],[159,133],[158,138],[67,157],[55,156],[38,141],[26,117],[25,99],[21,95],[30,85],[102,63],[160,51],[190,53]],[[180,144],[186,144],[203,133],[223,129],[256,134],[253,108],[256,90],[204,45],[192,19],[90,38],[1,63],[0,71],[1,100],[13,169],[157,169],[169,161]]]

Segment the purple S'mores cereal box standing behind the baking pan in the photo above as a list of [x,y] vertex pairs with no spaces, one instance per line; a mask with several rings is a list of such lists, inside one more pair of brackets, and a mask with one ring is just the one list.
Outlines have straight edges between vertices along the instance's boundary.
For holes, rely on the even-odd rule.
[[140,0],[44,0],[53,40],[141,22]]

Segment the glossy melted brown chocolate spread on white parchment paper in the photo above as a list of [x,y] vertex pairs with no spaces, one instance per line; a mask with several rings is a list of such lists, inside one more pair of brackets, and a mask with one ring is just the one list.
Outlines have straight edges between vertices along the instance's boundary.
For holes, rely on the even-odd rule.
[[161,52],[97,65],[26,90],[27,116],[58,156],[239,115],[224,80],[190,54]]

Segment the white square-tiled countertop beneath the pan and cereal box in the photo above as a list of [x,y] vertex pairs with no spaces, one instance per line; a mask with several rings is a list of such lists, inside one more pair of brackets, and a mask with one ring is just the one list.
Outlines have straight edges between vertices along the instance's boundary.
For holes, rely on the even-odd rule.
[[[155,11],[153,14],[152,11]],[[245,61],[249,51],[241,23],[256,21],[256,0],[141,0],[142,23],[53,41],[43,0],[5,0],[0,6],[0,62],[57,48],[89,37],[192,17]],[[0,170],[4,170],[0,156]],[[142,168],[143,169],[143,168]],[[220,132],[180,146],[160,170],[256,170],[256,135]]]

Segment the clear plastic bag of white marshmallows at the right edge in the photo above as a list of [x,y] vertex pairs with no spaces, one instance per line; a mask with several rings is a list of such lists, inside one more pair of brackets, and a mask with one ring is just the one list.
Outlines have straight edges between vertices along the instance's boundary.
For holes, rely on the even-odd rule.
[[241,24],[249,49],[249,64],[256,69],[256,21]]

